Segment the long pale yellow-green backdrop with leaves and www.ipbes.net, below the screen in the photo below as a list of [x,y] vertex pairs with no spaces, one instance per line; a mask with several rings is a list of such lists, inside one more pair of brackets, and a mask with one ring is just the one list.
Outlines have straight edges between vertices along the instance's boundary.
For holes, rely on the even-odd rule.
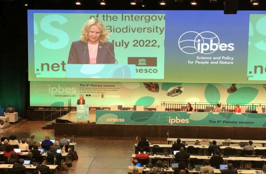
[[[123,83],[123,82],[30,82],[30,106],[72,105],[80,95],[90,107],[143,105],[156,108],[161,102],[265,103],[266,85],[208,83]],[[255,108],[246,108],[255,109]]]

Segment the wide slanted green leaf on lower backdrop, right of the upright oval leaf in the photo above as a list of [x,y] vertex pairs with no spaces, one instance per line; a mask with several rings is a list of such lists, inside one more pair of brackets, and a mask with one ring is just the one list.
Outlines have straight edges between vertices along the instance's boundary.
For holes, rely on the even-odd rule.
[[258,91],[252,87],[241,87],[236,92],[229,94],[226,102],[229,104],[248,104],[256,98]]

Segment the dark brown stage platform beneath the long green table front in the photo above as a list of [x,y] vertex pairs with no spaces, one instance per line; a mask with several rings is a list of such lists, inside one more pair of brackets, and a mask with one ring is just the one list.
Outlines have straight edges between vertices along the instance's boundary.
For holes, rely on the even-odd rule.
[[[90,123],[77,123],[75,112],[65,115],[74,123],[55,123],[55,136],[63,134],[78,137],[106,136],[106,137],[186,137],[186,138],[209,138],[209,139],[266,139],[265,127],[216,127],[216,126],[173,126],[173,125],[148,125],[148,124],[95,124],[96,110],[90,110]],[[260,135],[260,136],[254,136]]]

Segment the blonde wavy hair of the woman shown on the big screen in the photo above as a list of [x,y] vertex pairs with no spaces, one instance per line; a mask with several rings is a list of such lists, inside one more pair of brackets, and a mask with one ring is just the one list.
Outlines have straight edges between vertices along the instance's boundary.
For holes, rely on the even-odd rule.
[[90,32],[90,27],[93,25],[98,26],[100,28],[101,35],[99,37],[99,42],[102,44],[106,43],[109,39],[108,36],[110,35],[110,33],[107,31],[103,22],[100,21],[100,19],[98,18],[90,19],[85,23],[84,28],[81,30],[82,35],[80,36],[80,40],[84,43],[88,42],[88,33]]

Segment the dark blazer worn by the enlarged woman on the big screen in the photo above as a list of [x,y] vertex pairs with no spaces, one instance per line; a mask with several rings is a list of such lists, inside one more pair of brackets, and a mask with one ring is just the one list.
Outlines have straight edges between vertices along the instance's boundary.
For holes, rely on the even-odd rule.
[[[110,51],[109,51],[109,50]],[[74,41],[71,44],[68,56],[68,64],[90,64],[90,56],[88,52],[88,44],[81,40]],[[84,56],[85,52],[85,56]],[[112,54],[113,55],[112,55]],[[112,42],[101,44],[99,42],[96,63],[97,64],[114,64],[114,46]]]

